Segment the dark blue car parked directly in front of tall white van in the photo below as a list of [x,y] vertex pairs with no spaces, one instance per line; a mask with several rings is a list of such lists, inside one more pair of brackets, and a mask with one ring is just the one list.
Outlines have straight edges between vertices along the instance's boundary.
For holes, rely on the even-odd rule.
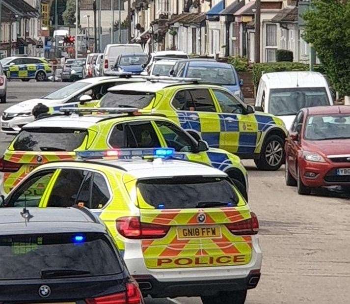
[[148,61],[146,54],[119,55],[113,70],[117,72],[130,72],[133,75],[140,75]]

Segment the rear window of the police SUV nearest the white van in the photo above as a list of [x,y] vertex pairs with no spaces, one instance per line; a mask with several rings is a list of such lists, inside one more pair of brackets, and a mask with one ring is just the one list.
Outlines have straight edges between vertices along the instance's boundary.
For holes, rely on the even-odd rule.
[[101,108],[116,108],[116,107],[135,107],[143,109],[147,107],[155,94],[149,92],[135,91],[116,91],[108,92],[102,97],[100,102]]

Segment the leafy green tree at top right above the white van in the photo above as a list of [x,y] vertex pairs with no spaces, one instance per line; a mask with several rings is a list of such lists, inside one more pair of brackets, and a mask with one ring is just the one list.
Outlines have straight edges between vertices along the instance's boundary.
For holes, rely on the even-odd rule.
[[349,96],[350,1],[313,0],[303,18],[304,40],[313,44],[333,87]]

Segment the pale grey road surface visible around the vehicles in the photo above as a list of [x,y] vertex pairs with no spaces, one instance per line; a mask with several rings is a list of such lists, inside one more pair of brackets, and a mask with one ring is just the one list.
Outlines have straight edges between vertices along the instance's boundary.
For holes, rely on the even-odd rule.
[[[44,95],[66,83],[10,82],[8,103]],[[12,137],[0,135],[0,155]],[[260,222],[262,276],[247,304],[350,303],[350,196],[318,190],[302,196],[287,187],[284,167],[249,176],[249,204]],[[201,304],[199,298],[146,299],[147,304]]]

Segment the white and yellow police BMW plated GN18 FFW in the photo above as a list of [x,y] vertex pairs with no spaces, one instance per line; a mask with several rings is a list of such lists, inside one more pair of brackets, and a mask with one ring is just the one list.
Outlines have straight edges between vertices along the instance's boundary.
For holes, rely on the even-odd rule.
[[2,206],[85,206],[108,226],[144,296],[244,303],[260,278],[257,217],[227,174],[166,158],[173,153],[77,152],[82,161],[34,169]]

